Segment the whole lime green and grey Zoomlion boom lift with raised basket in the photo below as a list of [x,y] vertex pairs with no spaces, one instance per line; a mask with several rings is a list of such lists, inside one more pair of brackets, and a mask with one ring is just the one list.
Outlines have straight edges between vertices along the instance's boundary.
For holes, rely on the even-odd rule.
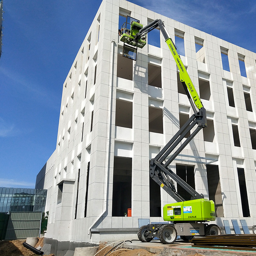
[[[154,28],[160,29],[179,68],[180,80],[194,111],[194,114],[150,162],[151,178],[177,201],[176,203],[166,204],[163,207],[163,219],[172,222],[172,224],[148,224],[147,226],[142,226],[138,230],[138,238],[142,242],[150,242],[154,237],[158,237],[162,243],[172,244],[175,242],[177,235],[180,235],[183,240],[188,240],[193,236],[221,234],[221,230],[217,225],[205,223],[216,219],[214,202],[204,199],[202,194],[199,194],[168,168],[170,163],[196,134],[202,128],[207,127],[206,111],[176,51],[176,47],[161,19],[156,19],[145,27],[133,20],[130,24],[130,29],[127,29],[127,26],[122,28],[120,41],[124,42],[123,56],[135,60],[137,47],[142,48],[146,44],[146,34]],[[187,132],[195,126],[197,126],[196,129],[188,138],[183,140]],[[177,193],[174,181],[191,195],[191,200],[185,201]]]

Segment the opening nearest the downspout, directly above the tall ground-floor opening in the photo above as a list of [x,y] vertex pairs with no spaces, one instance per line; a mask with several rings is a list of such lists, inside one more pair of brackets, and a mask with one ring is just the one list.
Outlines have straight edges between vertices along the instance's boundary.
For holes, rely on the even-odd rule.
[[132,102],[116,99],[116,126],[132,128]]

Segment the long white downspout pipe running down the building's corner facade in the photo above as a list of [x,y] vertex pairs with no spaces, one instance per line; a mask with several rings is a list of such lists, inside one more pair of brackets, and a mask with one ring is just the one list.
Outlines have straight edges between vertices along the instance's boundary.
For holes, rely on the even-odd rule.
[[111,138],[111,111],[112,111],[112,95],[113,95],[113,70],[114,70],[114,47],[115,40],[111,39],[112,43],[112,51],[111,51],[111,71],[110,71],[110,87],[109,87],[109,118],[108,118],[108,142],[107,142],[107,156],[106,156],[106,175],[105,175],[105,196],[104,196],[104,210],[100,214],[100,216],[95,220],[95,222],[89,227],[88,235],[91,233],[91,229],[95,225],[95,223],[102,217],[102,215],[106,212],[108,206],[108,180],[109,180],[109,155],[110,155],[110,138]]

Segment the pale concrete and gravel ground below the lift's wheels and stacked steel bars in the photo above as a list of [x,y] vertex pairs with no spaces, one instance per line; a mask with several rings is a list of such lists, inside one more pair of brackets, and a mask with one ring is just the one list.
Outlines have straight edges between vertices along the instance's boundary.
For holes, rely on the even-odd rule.
[[145,249],[151,253],[160,253],[161,251],[165,250],[165,255],[168,256],[168,252],[170,255],[172,251],[184,251],[188,252],[190,255],[194,255],[196,253],[205,254],[205,255],[243,255],[243,256],[256,256],[256,252],[254,251],[242,251],[242,250],[223,250],[218,248],[200,248],[200,247],[192,247],[193,243],[184,242],[181,240],[177,240],[173,244],[162,244],[159,240],[153,240],[149,243],[143,243],[139,240],[132,241],[132,243],[126,242],[122,247],[129,248],[129,249]]

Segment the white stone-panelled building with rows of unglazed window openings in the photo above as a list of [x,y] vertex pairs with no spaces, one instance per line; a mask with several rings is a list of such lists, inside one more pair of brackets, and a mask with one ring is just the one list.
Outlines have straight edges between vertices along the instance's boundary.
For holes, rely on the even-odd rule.
[[63,84],[56,150],[37,177],[36,188],[48,190],[45,237],[136,239],[138,218],[163,221],[163,205],[174,202],[150,179],[149,161],[193,110],[159,30],[137,61],[122,57],[119,20],[127,16],[165,22],[207,110],[208,128],[170,168],[214,199],[217,225],[242,218],[252,226],[256,54],[125,0],[103,0]]

